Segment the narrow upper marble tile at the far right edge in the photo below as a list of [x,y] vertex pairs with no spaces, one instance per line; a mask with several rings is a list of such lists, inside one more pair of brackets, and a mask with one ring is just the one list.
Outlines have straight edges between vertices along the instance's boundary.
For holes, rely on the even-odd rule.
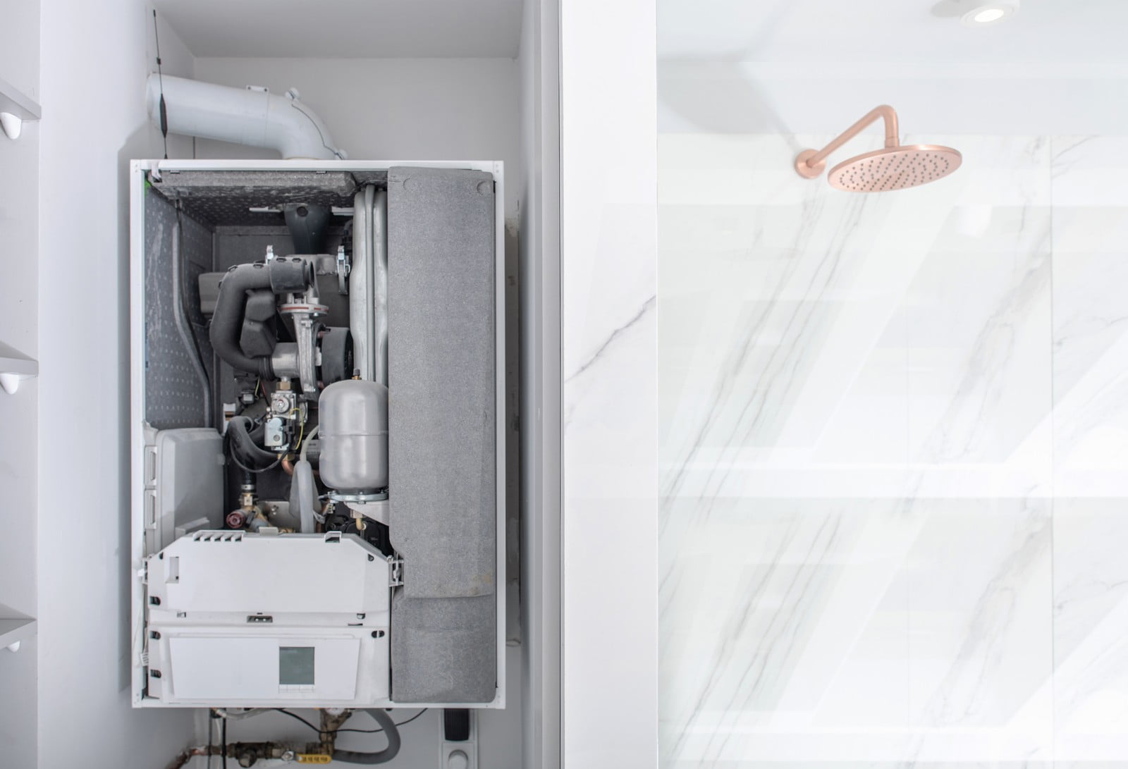
[[1128,138],[1055,138],[1059,496],[1128,494]]

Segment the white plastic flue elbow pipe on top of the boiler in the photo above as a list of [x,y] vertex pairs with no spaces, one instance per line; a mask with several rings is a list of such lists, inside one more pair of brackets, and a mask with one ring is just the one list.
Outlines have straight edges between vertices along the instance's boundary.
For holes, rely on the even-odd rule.
[[230,88],[166,74],[146,85],[149,117],[160,125],[160,95],[169,133],[266,147],[283,158],[344,159],[320,118],[293,89],[275,96],[259,88]]

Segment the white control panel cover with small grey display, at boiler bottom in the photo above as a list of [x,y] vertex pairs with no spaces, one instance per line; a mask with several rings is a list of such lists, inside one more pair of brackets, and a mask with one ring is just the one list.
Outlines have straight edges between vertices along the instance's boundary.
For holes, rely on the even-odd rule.
[[389,559],[352,534],[202,531],[147,559],[168,705],[388,705]]

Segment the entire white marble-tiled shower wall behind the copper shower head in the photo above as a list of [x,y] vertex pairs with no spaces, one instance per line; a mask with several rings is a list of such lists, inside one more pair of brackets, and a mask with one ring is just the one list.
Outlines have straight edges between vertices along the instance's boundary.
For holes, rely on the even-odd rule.
[[660,136],[662,766],[1128,767],[1128,139],[825,139]]

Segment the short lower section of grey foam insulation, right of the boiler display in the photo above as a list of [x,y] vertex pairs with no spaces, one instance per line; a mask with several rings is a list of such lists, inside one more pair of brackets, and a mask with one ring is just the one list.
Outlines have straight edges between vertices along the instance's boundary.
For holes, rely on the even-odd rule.
[[391,596],[391,699],[490,702],[497,689],[496,604],[492,595]]

